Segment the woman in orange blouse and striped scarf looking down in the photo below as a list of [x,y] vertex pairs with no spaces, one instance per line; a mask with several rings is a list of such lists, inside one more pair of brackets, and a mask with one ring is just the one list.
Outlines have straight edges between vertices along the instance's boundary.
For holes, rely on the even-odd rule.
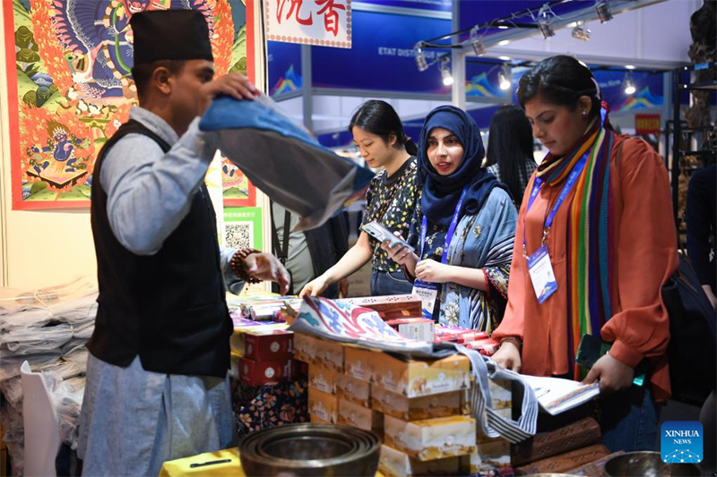
[[[523,197],[494,360],[525,374],[599,380],[603,443],[651,449],[655,401],[670,392],[661,284],[678,267],[667,170],[645,141],[612,130],[597,81],[573,57],[525,73],[518,99],[549,154]],[[612,344],[587,376],[574,359],[585,334]],[[643,362],[650,383],[638,387]]]

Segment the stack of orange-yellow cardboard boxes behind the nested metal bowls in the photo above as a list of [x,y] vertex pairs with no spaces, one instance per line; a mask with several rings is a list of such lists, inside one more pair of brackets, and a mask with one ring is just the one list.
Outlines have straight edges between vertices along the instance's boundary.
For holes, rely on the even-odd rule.
[[[388,353],[294,335],[295,358],[308,364],[311,422],[373,430],[384,441],[387,476],[465,475],[510,469],[510,445],[481,438],[471,415],[471,362],[455,354],[402,360]],[[510,416],[510,388],[494,406]]]

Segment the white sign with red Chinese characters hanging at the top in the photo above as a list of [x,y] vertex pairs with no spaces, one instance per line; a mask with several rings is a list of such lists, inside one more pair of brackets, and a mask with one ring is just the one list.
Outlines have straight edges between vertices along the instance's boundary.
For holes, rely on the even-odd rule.
[[266,0],[266,38],[320,47],[351,47],[351,0]]

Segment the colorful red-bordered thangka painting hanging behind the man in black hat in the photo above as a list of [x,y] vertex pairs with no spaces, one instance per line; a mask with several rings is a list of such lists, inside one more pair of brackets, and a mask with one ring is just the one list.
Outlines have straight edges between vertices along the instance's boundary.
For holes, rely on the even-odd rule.
[[[243,2],[4,1],[13,209],[89,207],[97,153],[137,104],[129,27],[134,13],[202,12],[217,74],[246,74]],[[228,182],[236,176],[228,173]],[[225,189],[232,187],[236,184]]]

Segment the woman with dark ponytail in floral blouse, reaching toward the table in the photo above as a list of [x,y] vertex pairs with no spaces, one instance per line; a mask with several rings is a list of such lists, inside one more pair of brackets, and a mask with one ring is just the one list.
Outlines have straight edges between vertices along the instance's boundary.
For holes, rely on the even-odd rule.
[[[359,106],[349,131],[367,165],[383,168],[368,186],[361,225],[376,220],[394,233],[407,235],[419,196],[416,145],[403,133],[401,119],[385,101],[371,100]],[[341,260],[307,283],[299,296],[322,294],[328,285],[349,277],[368,260],[372,266],[372,295],[410,294],[412,285],[404,277],[401,265],[388,258],[376,239],[361,231],[358,242]]]

